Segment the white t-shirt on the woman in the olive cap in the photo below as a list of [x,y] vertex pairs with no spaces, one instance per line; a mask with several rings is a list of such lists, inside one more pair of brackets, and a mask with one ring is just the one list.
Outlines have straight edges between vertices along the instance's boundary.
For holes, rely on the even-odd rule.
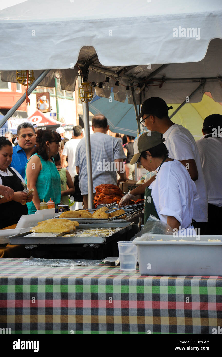
[[153,202],[161,221],[167,222],[167,216],[173,216],[180,222],[181,229],[192,228],[193,202],[199,200],[199,195],[181,162],[163,162],[149,188],[152,188]]

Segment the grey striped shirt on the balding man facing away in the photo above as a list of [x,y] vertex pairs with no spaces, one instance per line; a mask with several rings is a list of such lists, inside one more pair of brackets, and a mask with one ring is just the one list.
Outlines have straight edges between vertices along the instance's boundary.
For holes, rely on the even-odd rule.
[[[91,158],[92,158],[92,180],[93,192],[95,187],[101,183],[111,183],[116,185],[116,167],[114,160],[126,159],[122,145],[117,138],[95,132],[90,135]],[[76,149],[75,165],[79,166],[79,187],[82,195],[88,194],[87,184],[87,162],[86,162],[86,142],[83,138]],[[122,169],[122,170],[121,170]],[[125,167],[122,162],[120,172],[124,172]]]

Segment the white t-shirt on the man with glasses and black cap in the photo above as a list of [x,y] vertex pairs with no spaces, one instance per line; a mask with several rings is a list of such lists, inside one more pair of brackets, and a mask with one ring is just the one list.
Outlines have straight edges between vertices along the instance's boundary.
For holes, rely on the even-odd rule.
[[169,150],[169,158],[175,160],[195,160],[198,180],[195,181],[200,199],[194,203],[193,218],[196,222],[208,221],[208,197],[197,144],[189,130],[174,124],[163,134],[164,144]]

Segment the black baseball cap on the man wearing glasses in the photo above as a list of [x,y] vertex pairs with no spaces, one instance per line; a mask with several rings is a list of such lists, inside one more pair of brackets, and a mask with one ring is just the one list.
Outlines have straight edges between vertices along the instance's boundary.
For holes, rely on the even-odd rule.
[[150,97],[146,99],[141,107],[141,113],[137,116],[136,120],[139,120],[144,114],[156,115],[158,118],[168,116],[168,110],[173,107],[168,107],[166,102],[160,97]]

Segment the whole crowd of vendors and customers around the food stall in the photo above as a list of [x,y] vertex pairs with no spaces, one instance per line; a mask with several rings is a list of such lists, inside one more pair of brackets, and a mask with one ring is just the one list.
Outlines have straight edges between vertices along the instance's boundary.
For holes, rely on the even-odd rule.
[[[157,174],[129,191],[120,206],[144,193],[145,221],[153,214],[172,228],[193,227],[202,235],[220,234],[222,115],[206,117],[203,138],[197,142],[185,127],[170,120],[167,104],[159,97],[145,100],[137,120],[148,131],[135,140],[128,135],[107,135],[107,119],[102,115],[92,118],[93,192],[101,183],[118,185],[133,180],[137,162]],[[14,147],[0,137],[0,204],[4,208],[0,228],[17,223],[24,214],[35,213],[43,200],[51,199],[56,206],[70,205],[77,176],[82,196],[71,209],[82,204],[88,208],[86,143],[80,125],[73,128],[73,137],[68,140],[62,127],[36,131],[24,122],[13,140]],[[108,165],[112,163],[114,166]],[[27,197],[25,185],[34,188],[33,195]]]

